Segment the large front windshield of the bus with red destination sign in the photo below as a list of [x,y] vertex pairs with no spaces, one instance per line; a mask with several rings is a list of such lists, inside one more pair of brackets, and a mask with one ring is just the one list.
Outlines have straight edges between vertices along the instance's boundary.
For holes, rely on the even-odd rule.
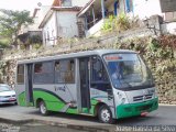
[[108,72],[114,88],[147,88],[154,81],[151,72],[138,54],[105,55]]

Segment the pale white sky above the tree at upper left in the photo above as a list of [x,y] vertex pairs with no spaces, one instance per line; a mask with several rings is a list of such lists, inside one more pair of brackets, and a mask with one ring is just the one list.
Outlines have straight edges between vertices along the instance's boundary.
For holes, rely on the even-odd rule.
[[0,9],[32,11],[41,2],[42,6],[51,6],[54,0],[0,0]]

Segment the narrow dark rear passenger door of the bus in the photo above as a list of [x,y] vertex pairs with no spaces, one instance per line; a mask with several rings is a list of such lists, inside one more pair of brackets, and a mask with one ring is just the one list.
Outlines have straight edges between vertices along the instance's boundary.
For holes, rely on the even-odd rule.
[[25,94],[26,94],[26,106],[33,106],[33,64],[26,64],[25,68]]

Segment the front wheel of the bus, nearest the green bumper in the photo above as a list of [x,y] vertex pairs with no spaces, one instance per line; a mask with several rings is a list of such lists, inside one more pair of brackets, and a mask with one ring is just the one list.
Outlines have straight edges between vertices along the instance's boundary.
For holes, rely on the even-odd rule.
[[112,112],[108,106],[103,105],[98,109],[98,119],[101,123],[116,123]]

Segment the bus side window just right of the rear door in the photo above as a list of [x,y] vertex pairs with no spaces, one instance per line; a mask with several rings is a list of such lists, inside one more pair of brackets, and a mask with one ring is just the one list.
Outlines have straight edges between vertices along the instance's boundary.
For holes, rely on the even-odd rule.
[[34,84],[53,84],[54,65],[53,62],[37,63],[34,65]]

